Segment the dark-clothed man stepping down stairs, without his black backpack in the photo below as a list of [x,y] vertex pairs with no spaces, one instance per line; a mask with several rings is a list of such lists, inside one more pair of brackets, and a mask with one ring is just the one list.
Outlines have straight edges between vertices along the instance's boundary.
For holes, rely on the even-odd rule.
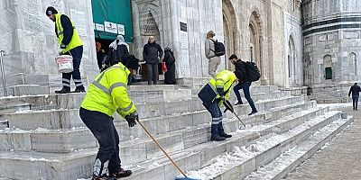
[[248,115],[252,115],[257,113],[257,109],[255,108],[254,100],[251,97],[251,93],[249,92],[249,87],[251,86],[252,82],[247,79],[247,69],[245,67],[245,62],[241,59],[238,59],[235,54],[232,54],[229,57],[229,60],[236,66],[236,77],[238,78],[238,84],[235,85],[234,90],[236,94],[236,98],[238,102],[235,105],[243,104],[241,99],[241,94],[239,94],[239,90],[243,89],[245,94],[245,99],[251,106],[252,112]]

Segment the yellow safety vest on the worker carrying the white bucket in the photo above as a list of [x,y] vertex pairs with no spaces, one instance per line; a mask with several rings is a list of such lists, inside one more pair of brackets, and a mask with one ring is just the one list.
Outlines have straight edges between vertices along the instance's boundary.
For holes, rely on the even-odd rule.
[[[62,27],[61,21],[60,21],[60,16],[61,14],[55,14],[55,26],[58,32],[58,43],[61,44],[61,41],[64,38],[64,29]],[[71,40],[69,42],[69,44],[66,46],[65,49],[62,49],[61,53],[66,53],[68,52],[70,49],[74,49],[77,48],[79,46],[82,46],[83,43],[81,42],[81,39],[79,37],[78,31],[75,29],[75,24],[73,23],[73,21],[71,21],[71,25],[73,26],[73,36],[71,37]]]

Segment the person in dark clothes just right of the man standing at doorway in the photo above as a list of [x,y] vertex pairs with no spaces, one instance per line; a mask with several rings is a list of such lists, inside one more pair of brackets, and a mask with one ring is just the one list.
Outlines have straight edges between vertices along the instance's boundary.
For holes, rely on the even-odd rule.
[[165,85],[175,85],[175,58],[174,54],[171,51],[170,47],[164,48],[164,58],[163,62],[167,67],[167,72],[164,75],[164,83]]

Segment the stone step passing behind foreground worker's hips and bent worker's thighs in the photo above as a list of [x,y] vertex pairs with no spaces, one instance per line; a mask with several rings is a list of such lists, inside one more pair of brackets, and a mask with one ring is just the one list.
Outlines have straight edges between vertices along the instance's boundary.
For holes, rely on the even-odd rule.
[[[271,101],[264,100],[256,103],[256,105],[259,111],[266,111],[274,107],[303,101],[304,99],[301,96],[286,97]],[[135,105],[139,117],[142,119],[204,110],[203,105],[198,99],[171,103],[142,103]],[[246,114],[249,112],[249,107],[242,105],[236,108],[235,112],[237,114]],[[9,121],[10,127],[16,127],[22,130],[36,130],[38,128],[58,130],[85,126],[79,117],[78,109],[14,112],[1,114],[0,117],[3,120]],[[118,115],[115,116],[115,119],[116,121],[120,120]]]

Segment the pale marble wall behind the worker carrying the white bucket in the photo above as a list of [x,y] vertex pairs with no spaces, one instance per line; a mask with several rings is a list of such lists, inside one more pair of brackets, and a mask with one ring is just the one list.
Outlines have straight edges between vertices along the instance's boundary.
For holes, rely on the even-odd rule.
[[[0,49],[7,52],[5,74],[59,76],[54,61],[60,51],[55,26],[45,14],[53,5],[76,23],[84,43],[83,75],[97,73],[94,25],[90,0],[1,0]],[[77,18],[79,17],[79,18]]]

